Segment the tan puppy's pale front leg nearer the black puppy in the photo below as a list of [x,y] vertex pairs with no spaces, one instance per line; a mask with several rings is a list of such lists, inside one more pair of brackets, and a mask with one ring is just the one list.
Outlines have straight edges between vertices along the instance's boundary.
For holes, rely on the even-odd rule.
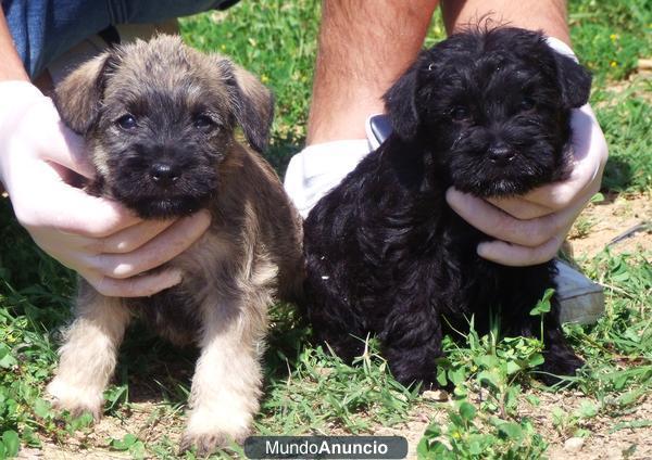
[[205,455],[229,442],[241,443],[249,434],[261,396],[259,359],[267,309],[263,297],[249,309],[240,306],[241,301],[203,307],[201,356],[192,378],[181,449],[195,445]]

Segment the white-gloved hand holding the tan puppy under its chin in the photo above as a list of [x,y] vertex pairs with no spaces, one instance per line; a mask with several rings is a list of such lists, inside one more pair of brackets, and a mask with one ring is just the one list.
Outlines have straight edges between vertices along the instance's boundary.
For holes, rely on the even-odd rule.
[[72,187],[74,173],[90,178],[93,168],[52,101],[24,81],[1,84],[0,100],[0,180],[36,244],[103,295],[152,295],[180,282],[178,270],[143,272],[188,248],[208,229],[209,213],[142,220]]

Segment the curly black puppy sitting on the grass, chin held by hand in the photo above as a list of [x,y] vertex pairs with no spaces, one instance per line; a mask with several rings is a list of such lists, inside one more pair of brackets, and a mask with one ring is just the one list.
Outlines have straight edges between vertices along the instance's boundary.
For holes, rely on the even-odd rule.
[[[487,332],[539,336],[529,311],[555,288],[552,261],[506,267],[480,258],[490,238],[444,200],[454,186],[476,196],[522,194],[567,176],[570,108],[591,77],[541,34],[469,30],[423,51],[385,94],[393,133],[325,196],[304,226],[304,306],[319,340],[344,359],[376,333],[394,376],[434,383],[441,338]],[[582,365],[566,344],[557,302],[544,317],[542,370]],[[552,382],[553,378],[542,376]]]

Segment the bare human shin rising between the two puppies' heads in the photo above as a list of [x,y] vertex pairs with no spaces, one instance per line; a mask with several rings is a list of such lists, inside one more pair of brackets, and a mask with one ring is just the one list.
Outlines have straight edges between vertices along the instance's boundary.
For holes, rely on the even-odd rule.
[[363,139],[364,120],[423,46],[437,0],[323,2],[308,143]]

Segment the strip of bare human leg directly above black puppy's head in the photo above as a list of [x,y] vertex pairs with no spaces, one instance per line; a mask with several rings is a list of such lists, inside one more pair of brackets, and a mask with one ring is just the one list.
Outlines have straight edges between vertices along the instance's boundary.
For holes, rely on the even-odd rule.
[[441,9],[449,35],[490,17],[497,25],[543,30],[570,44],[565,0],[443,0]]

